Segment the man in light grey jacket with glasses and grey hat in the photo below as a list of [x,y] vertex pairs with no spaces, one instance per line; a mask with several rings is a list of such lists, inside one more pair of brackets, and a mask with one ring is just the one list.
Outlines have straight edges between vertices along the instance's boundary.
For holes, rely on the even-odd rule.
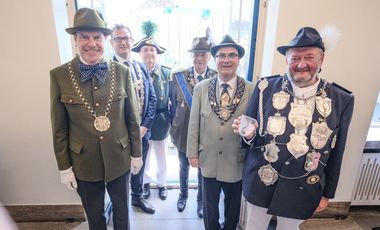
[[[204,226],[235,230],[239,221],[245,151],[231,129],[246,111],[253,85],[237,75],[244,48],[226,35],[211,47],[217,77],[195,85],[187,137],[187,157],[202,172]],[[224,193],[224,223],[219,223],[220,193]]]

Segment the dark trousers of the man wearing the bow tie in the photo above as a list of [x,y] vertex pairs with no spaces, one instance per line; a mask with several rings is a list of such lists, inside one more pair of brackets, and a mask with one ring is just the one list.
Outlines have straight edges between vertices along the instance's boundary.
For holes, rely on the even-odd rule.
[[106,230],[104,213],[105,189],[113,204],[113,227],[118,230],[129,229],[128,190],[129,171],[122,176],[105,183],[104,181],[88,182],[78,180],[77,192],[86,212],[91,230]]

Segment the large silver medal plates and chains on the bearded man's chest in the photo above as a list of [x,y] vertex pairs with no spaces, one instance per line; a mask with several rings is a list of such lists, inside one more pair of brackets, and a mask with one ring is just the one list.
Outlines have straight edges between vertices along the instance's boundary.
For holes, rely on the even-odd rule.
[[[268,85],[266,79],[262,80],[264,83],[259,83],[260,89],[260,101],[259,101],[259,110],[260,110],[260,121],[263,119],[262,115],[262,100],[263,100],[263,91]],[[273,139],[270,143],[264,146],[264,158],[268,161],[267,165],[262,166],[258,173],[261,181],[265,185],[274,184],[278,177],[285,179],[300,179],[306,177],[310,172],[314,171],[318,167],[319,158],[321,154],[316,151],[316,149],[323,148],[327,140],[329,139],[332,130],[328,128],[326,118],[331,113],[331,99],[327,97],[325,92],[325,87],[327,82],[323,81],[322,87],[312,96],[307,98],[301,98],[296,96],[292,91],[287,87],[288,80],[283,78],[283,83],[281,91],[273,94],[272,105],[277,110],[274,116],[268,117],[267,132],[273,136]],[[290,103],[291,109],[288,115],[289,123],[295,128],[294,133],[290,135],[290,141],[286,143],[288,151],[293,155],[295,159],[306,154],[306,160],[304,164],[305,173],[299,176],[288,177],[281,175],[277,172],[271,165],[271,163],[276,162],[279,159],[280,148],[276,144],[282,144],[276,142],[276,137],[283,135],[286,129],[286,120],[287,118],[281,115],[281,110],[287,107],[290,96],[294,98],[294,102]],[[315,99],[315,100],[314,100]],[[312,124],[311,132],[311,145],[313,149],[309,152],[309,146],[306,143],[306,131],[309,125],[312,122],[312,116],[314,108],[317,108],[318,113],[321,117],[317,122]],[[260,122],[262,126],[262,123]],[[262,133],[262,130],[260,130]],[[321,164],[323,164],[321,162]],[[323,164],[325,165],[325,164]],[[318,175],[313,175],[307,178],[307,183],[315,184],[319,181]]]

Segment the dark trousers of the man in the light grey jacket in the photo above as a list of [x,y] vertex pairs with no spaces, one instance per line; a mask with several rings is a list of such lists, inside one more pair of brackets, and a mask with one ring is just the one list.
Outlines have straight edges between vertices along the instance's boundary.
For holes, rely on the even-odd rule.
[[[240,215],[242,182],[227,183],[203,177],[203,222],[206,230],[236,230]],[[224,193],[224,227],[219,223],[220,192]]]

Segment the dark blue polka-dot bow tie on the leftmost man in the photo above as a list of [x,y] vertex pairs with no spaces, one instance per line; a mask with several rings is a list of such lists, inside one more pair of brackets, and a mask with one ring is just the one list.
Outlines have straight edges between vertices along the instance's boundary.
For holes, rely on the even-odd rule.
[[86,65],[79,63],[79,72],[81,82],[88,81],[95,76],[96,79],[104,83],[107,78],[107,62],[98,63],[95,65]]

